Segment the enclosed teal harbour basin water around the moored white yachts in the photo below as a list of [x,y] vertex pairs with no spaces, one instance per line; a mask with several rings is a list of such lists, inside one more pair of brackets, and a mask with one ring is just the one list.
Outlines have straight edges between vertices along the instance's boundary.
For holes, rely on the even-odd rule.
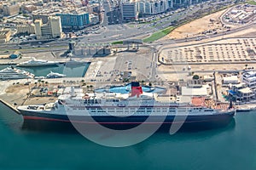
[[[18,69],[29,71],[36,77],[45,77],[50,71],[58,72],[67,75],[67,77],[84,77],[85,72],[89,67],[89,63],[84,65],[76,65],[74,67],[67,67],[65,65],[58,66],[41,66],[41,67],[17,67]],[[0,65],[0,70],[9,65]]]

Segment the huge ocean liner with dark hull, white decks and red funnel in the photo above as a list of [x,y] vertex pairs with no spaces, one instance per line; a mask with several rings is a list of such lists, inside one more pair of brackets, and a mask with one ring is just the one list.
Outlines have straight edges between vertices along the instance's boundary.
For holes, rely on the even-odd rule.
[[[128,129],[140,124],[160,124],[171,127],[173,123],[183,126],[216,127],[227,125],[236,110],[232,105],[207,106],[205,98],[178,96],[176,100],[162,99],[160,94],[143,93],[139,82],[131,82],[130,94],[93,93],[83,94],[69,87],[55,103],[45,105],[21,105],[17,109],[29,126],[51,123],[101,124],[113,129]],[[42,125],[43,124],[43,125]],[[56,127],[56,126],[55,126]]]

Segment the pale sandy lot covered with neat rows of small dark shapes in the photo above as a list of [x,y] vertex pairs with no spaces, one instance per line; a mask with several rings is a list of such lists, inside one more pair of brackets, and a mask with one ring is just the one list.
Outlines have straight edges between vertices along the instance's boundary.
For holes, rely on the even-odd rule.
[[166,64],[256,61],[256,38],[230,38],[201,45],[166,48],[160,59]]

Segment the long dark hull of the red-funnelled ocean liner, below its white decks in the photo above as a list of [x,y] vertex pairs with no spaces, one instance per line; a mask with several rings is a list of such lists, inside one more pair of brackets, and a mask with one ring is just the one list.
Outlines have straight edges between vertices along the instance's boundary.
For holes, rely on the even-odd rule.
[[29,129],[75,129],[84,127],[93,129],[101,124],[117,130],[125,130],[143,124],[143,130],[151,127],[159,127],[159,131],[168,131],[172,125],[181,127],[180,130],[209,129],[227,126],[235,115],[235,111],[225,112],[216,115],[200,116],[67,116],[33,111],[20,111],[24,117],[24,128]]

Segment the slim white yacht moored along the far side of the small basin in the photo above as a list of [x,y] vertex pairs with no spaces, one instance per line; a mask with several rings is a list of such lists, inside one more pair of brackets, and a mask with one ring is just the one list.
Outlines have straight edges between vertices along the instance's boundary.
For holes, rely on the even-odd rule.
[[58,65],[60,64],[59,62],[55,62],[55,61],[48,61],[48,60],[43,60],[43,59],[35,59],[32,58],[28,61],[24,61],[22,63],[19,63],[17,66],[47,66],[47,65]]

